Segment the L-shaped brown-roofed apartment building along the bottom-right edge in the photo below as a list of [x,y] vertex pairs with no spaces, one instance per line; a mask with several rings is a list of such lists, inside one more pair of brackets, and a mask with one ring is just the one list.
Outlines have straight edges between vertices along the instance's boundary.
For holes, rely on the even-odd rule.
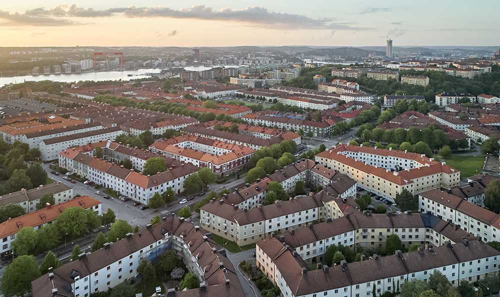
[[427,281],[438,270],[453,286],[459,281],[476,281],[486,274],[496,273],[500,253],[481,240],[446,244],[434,248],[380,257],[328,267],[318,265],[308,270],[300,256],[271,237],[260,240],[256,246],[256,261],[266,276],[277,285],[282,294],[295,296],[370,296],[395,291],[396,283],[404,280]]

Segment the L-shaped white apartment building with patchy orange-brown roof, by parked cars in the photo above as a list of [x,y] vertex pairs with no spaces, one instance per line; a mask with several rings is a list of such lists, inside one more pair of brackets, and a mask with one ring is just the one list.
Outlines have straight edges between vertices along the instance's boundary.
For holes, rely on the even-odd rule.
[[168,187],[180,193],[184,190],[184,179],[199,169],[190,163],[167,157],[165,162],[167,171],[147,176],[76,150],[65,149],[59,153],[59,166],[143,204],[148,204],[154,193],[162,193]]

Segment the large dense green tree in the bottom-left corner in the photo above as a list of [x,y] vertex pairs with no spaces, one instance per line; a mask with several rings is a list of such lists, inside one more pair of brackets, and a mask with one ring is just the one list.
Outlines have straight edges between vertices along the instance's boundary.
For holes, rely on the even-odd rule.
[[31,281],[40,276],[40,269],[33,255],[18,256],[3,272],[1,291],[6,297],[23,296],[31,290]]

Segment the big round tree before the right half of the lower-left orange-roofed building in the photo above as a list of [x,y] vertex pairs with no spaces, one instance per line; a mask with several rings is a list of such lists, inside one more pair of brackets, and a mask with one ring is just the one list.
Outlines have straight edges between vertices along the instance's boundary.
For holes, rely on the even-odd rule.
[[87,231],[87,215],[82,207],[68,207],[62,210],[54,223],[59,232],[67,234],[68,238],[80,237]]

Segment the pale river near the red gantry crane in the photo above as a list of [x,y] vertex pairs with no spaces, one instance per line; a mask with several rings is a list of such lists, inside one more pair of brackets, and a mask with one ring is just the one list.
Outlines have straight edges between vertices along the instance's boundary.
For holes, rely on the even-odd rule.
[[[205,66],[185,66],[184,69],[187,71],[201,71],[211,69],[211,67]],[[49,74],[49,75],[24,75],[24,76],[12,76],[12,77],[0,77],[0,86],[7,83],[20,83],[24,81],[40,81],[40,80],[53,80],[61,82],[73,82],[80,80],[130,80],[134,78],[147,77],[145,73],[158,73],[159,68],[149,68],[149,69],[136,69],[136,70],[124,70],[124,71],[102,71],[102,72],[84,72],[84,73],[61,73],[61,74]],[[128,76],[127,74],[132,74],[133,76]]]

